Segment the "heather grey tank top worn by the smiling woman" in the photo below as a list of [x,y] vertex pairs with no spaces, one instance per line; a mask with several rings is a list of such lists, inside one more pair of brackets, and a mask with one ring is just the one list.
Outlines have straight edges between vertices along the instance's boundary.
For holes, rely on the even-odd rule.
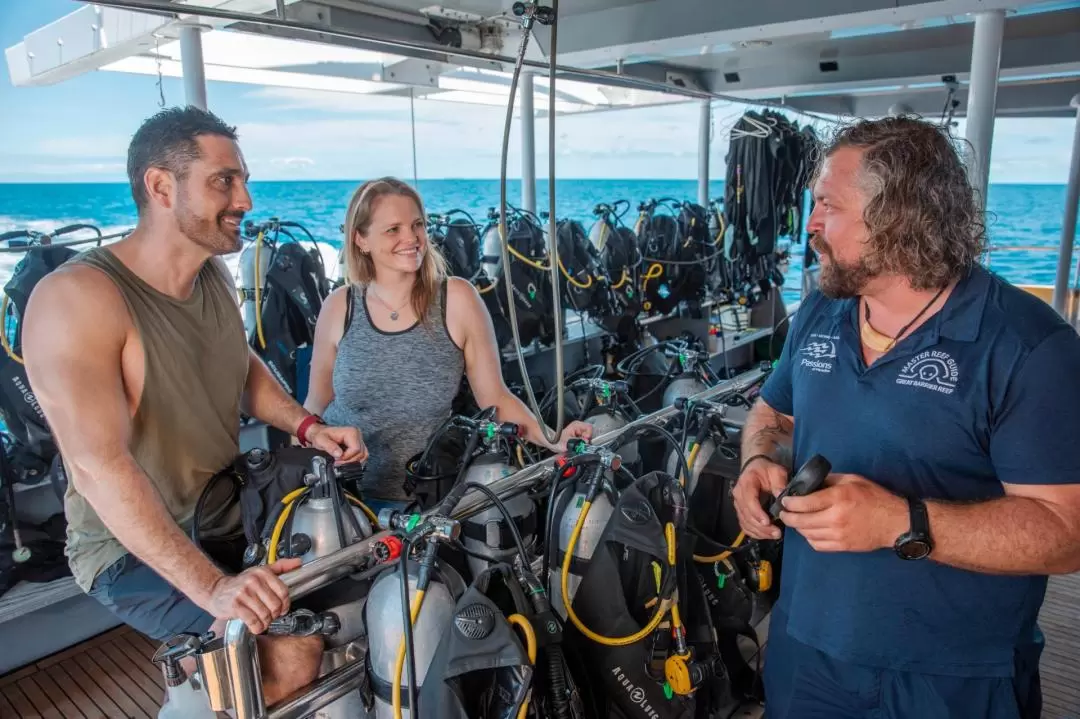
[[369,453],[366,497],[407,499],[405,464],[423,451],[449,417],[464,374],[464,354],[446,327],[446,281],[427,325],[386,331],[372,324],[366,287],[353,286],[352,317],[334,362],[329,424],[355,426]]

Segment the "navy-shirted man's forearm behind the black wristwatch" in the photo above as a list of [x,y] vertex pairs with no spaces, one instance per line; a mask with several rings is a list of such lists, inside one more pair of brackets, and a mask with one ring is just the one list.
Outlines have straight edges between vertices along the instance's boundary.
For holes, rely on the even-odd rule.
[[990,574],[1080,571],[1080,532],[1045,502],[1002,497],[970,504],[927,502],[930,558]]

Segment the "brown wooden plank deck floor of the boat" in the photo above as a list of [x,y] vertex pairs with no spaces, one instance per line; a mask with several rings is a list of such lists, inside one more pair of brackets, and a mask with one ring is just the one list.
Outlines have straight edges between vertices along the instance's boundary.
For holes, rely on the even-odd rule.
[[[1080,574],[1050,580],[1040,624],[1042,719],[1080,718]],[[767,626],[767,625],[766,625]],[[154,719],[164,679],[154,643],[120,627],[0,677],[2,719]],[[757,717],[759,710],[739,717]]]

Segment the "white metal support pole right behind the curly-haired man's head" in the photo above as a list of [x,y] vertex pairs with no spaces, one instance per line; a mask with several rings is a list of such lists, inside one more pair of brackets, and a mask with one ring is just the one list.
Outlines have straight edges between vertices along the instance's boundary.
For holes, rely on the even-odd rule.
[[994,141],[994,113],[998,106],[998,72],[1001,69],[1004,31],[1005,11],[991,10],[975,15],[964,137],[974,150],[969,177],[984,208],[990,178],[990,145]]

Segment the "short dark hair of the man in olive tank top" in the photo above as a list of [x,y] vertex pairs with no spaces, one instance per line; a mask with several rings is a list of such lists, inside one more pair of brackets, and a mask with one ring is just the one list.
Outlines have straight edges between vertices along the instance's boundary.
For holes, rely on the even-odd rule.
[[158,112],[135,131],[127,146],[127,180],[135,206],[141,212],[149,200],[143,176],[150,167],[162,167],[184,179],[188,167],[199,159],[200,135],[220,135],[237,139],[231,127],[213,112],[197,107],[173,107]]

